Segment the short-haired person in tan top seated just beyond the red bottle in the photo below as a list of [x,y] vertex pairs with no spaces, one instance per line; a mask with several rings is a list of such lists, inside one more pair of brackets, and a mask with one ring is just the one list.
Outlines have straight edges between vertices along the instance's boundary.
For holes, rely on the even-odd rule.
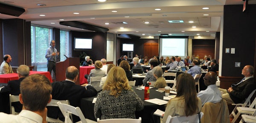
[[165,79],[163,76],[163,70],[160,66],[154,67],[152,70],[152,73],[154,77],[157,79],[156,83],[154,84],[154,87],[156,88],[164,88],[167,86]]

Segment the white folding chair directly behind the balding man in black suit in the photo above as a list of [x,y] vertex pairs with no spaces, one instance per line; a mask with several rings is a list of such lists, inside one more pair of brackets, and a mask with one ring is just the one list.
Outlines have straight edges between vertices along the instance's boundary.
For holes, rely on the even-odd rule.
[[[61,103],[64,103],[64,104],[67,104],[67,105],[70,105],[69,101],[68,100],[54,100],[52,99],[50,103],[47,104],[47,106],[57,106],[58,107],[58,102],[61,102]],[[72,115],[70,115],[71,119],[72,119]],[[47,122],[54,122],[54,123],[64,123],[63,121],[59,120],[58,119],[54,119],[54,118],[51,118],[51,117],[46,117],[46,121]],[[73,120],[72,120],[73,121]]]

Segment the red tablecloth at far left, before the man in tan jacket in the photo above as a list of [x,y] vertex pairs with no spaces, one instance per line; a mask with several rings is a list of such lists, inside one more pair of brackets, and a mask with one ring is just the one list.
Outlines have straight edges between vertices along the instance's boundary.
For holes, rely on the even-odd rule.
[[[50,82],[52,82],[52,76],[50,75],[49,72],[29,71],[29,75],[32,75],[32,74],[42,74],[42,75],[45,75],[50,80]],[[8,83],[8,81],[17,80],[17,79],[19,79],[17,73],[1,74],[0,75],[0,83]]]

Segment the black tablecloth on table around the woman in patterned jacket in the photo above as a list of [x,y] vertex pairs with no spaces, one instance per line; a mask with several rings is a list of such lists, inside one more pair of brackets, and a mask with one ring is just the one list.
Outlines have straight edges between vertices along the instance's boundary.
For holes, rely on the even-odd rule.
[[[138,90],[136,89],[137,87],[133,87],[134,91],[136,92],[137,95],[139,95],[139,97],[144,101],[144,89],[143,90]],[[163,96],[165,95],[164,92],[157,92],[155,91],[157,88],[151,88],[150,89],[150,95],[149,95],[149,99],[154,99],[154,98],[158,98],[163,100]],[[84,114],[84,117],[90,120],[94,120],[96,121],[95,117],[94,117],[94,103],[92,103],[93,98],[95,97],[91,97],[91,98],[82,98],[81,99],[81,111]],[[157,110],[157,109],[161,109],[161,110],[165,110],[165,105],[157,105],[154,103],[149,103],[144,101],[144,109],[142,111],[136,112],[136,118],[138,119],[139,117],[142,118],[142,123],[160,123],[160,118],[159,116],[153,115],[153,113]]]

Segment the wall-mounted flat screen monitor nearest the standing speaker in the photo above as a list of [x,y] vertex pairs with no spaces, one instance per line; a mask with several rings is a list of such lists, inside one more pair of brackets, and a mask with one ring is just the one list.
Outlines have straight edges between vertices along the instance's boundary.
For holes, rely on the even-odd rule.
[[93,39],[75,38],[74,50],[92,50]]

